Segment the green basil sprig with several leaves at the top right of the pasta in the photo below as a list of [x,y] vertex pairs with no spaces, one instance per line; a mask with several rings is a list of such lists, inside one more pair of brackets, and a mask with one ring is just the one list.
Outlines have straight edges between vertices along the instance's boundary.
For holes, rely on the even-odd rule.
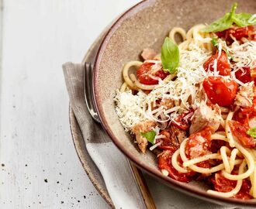
[[245,27],[252,26],[256,24],[255,15],[251,15],[249,13],[239,13],[236,14],[235,11],[237,9],[237,3],[232,5],[230,12],[226,13],[222,18],[217,19],[209,26],[201,29],[202,32],[220,32],[225,29],[229,29],[233,23],[236,23],[237,26]]

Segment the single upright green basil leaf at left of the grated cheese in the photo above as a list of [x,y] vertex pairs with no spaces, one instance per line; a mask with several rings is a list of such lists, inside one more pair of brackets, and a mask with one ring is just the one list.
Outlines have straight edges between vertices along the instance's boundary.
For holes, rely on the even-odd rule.
[[175,73],[179,63],[179,50],[178,46],[168,37],[164,39],[161,48],[161,61],[164,71],[168,71],[170,74]]

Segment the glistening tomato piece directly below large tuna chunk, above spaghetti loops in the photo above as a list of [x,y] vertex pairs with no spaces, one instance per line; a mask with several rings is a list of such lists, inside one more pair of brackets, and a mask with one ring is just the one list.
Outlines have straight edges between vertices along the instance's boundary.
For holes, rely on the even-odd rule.
[[[185,153],[189,159],[194,159],[211,153],[209,149],[211,146],[212,132],[212,128],[206,127],[189,136],[189,140],[185,147]],[[197,163],[196,165],[209,168],[209,161],[203,161],[202,163]]]

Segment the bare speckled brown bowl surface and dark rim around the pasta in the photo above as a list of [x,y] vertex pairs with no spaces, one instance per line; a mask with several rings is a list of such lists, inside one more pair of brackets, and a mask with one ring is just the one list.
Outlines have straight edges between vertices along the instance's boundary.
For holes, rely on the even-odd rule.
[[[256,12],[256,1],[236,1],[238,12]],[[149,0],[127,10],[112,25],[99,48],[95,60],[95,105],[103,128],[112,141],[137,166],[177,190],[217,204],[256,207],[256,200],[236,200],[206,193],[201,183],[180,183],[165,177],[157,169],[156,156],[147,151],[142,154],[123,130],[115,112],[113,98],[121,86],[122,68],[130,60],[140,60],[141,51],[150,47],[160,51],[164,37],[174,26],[189,29],[198,23],[213,22],[228,12],[233,1],[205,0]]]

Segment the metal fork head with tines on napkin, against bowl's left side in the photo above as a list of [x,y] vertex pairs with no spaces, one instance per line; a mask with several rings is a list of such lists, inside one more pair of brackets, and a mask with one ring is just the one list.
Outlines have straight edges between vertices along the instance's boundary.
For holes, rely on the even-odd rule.
[[95,120],[95,122],[100,123],[99,116],[93,104],[92,69],[93,69],[92,64],[85,63],[85,70],[84,70],[85,103],[92,118]]

